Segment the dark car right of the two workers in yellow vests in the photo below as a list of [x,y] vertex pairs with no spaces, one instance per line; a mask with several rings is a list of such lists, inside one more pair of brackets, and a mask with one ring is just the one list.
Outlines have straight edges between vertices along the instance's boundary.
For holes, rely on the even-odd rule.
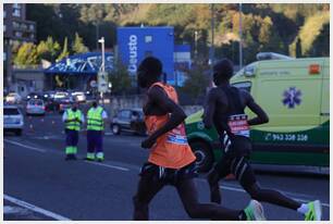
[[144,112],[141,109],[124,109],[120,110],[112,119],[110,128],[114,135],[122,132],[146,135],[147,128],[144,121]]

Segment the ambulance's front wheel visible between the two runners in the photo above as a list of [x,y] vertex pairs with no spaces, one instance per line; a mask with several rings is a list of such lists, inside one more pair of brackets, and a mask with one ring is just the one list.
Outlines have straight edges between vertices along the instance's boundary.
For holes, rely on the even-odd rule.
[[213,154],[209,145],[203,141],[193,141],[189,146],[197,158],[198,171],[208,172],[213,164]]

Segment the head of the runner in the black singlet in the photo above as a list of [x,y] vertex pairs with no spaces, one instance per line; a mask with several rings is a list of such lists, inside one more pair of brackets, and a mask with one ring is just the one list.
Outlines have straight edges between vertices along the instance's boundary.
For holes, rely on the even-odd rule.
[[213,80],[217,86],[229,82],[234,74],[234,65],[229,59],[222,59],[213,66]]

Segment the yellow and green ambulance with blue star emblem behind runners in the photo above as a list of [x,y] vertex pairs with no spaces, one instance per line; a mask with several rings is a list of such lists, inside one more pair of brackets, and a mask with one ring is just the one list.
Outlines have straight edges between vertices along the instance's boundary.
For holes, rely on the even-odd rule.
[[[330,59],[257,61],[240,70],[232,85],[249,91],[270,122],[252,126],[252,163],[329,166]],[[206,129],[202,110],[189,115],[186,133],[200,171],[210,170],[221,157],[214,128]],[[254,114],[247,109],[246,114]]]

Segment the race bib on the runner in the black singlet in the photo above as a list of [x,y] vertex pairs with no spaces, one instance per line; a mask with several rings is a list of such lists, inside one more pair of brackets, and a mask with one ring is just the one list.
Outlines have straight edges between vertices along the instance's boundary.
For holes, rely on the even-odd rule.
[[249,137],[249,126],[246,114],[230,116],[227,120],[227,125],[234,135]]

